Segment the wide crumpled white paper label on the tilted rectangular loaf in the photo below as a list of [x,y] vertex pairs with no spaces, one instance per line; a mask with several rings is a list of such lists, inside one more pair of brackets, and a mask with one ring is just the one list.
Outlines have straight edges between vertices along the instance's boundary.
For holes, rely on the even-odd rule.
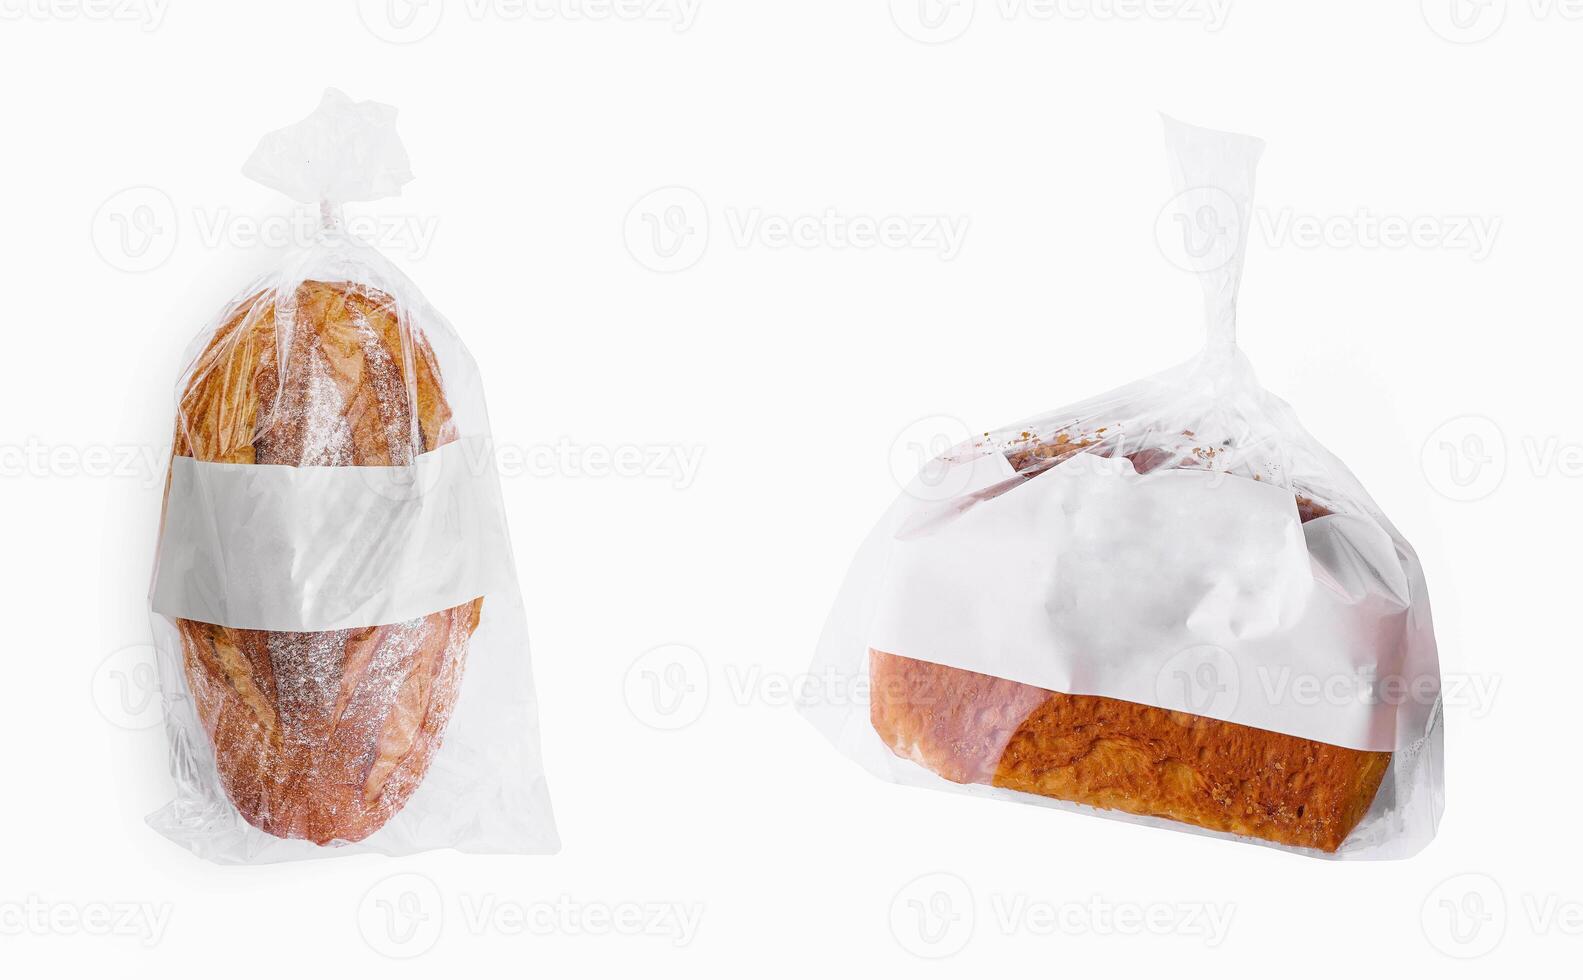
[[894,515],[872,649],[1368,750],[1393,749],[1396,698],[1437,692],[1406,676],[1409,586],[1372,521],[1124,459],[961,465]]

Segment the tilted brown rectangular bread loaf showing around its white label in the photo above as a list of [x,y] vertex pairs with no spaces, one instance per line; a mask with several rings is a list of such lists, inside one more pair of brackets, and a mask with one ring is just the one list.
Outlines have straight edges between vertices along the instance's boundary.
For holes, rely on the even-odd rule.
[[[1108,454],[1100,437],[1061,434],[1007,458],[1018,472],[1037,475],[1083,450]],[[1129,459],[1148,472],[1201,465],[1213,453],[1143,450]],[[1327,513],[1298,496],[1303,521]],[[869,717],[880,739],[953,782],[1323,852],[1341,847],[1368,812],[1391,758],[1183,711],[1057,693],[888,651],[869,651]]]

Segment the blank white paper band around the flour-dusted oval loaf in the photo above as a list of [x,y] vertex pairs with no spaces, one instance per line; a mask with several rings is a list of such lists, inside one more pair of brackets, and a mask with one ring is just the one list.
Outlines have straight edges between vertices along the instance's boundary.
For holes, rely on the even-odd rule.
[[154,611],[317,632],[427,616],[511,583],[486,439],[410,467],[171,461]]

